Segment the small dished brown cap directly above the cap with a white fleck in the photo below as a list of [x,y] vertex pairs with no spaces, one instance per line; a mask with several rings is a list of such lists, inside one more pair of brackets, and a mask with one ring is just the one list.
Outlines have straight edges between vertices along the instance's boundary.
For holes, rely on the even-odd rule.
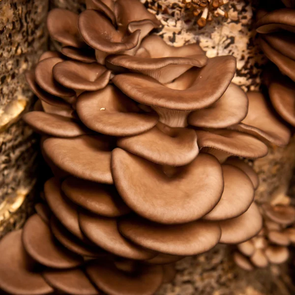
[[53,76],[64,87],[95,91],[107,86],[111,71],[96,62],[66,60],[53,67]]

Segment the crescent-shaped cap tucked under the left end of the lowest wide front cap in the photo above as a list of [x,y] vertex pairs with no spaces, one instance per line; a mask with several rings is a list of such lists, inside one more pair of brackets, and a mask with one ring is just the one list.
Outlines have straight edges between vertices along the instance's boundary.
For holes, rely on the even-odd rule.
[[115,255],[139,260],[156,255],[121,236],[115,218],[79,212],[79,224],[83,233],[93,243]]

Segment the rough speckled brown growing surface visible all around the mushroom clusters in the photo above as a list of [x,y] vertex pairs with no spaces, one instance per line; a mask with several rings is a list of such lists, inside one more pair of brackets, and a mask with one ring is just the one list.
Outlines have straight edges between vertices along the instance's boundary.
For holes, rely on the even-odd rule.
[[[165,25],[158,33],[168,43],[180,46],[199,42],[209,57],[234,54],[237,58],[234,81],[244,89],[259,88],[259,74],[265,59],[256,46],[253,30],[256,0],[224,0],[229,19],[216,18],[205,29],[198,29],[194,20],[185,21],[185,15],[180,12],[174,17],[170,15],[173,9],[177,10],[174,3],[177,0],[142,1]],[[38,165],[39,170],[36,166],[43,163],[36,152],[37,137],[22,121],[14,123],[33,101],[24,81],[24,71],[47,47],[48,5],[81,11],[83,2],[0,0],[0,236],[22,226],[32,211],[32,197],[37,197],[38,189],[31,191],[36,174],[44,171],[43,164]],[[167,5],[168,13],[159,10],[159,4],[162,8]],[[269,200],[280,185],[289,183],[295,164],[294,150],[293,139],[287,148],[270,148],[266,158],[255,161],[261,181],[256,194],[259,202]],[[26,196],[25,203],[14,212]],[[175,281],[163,286],[158,295],[295,294],[288,265],[247,273],[234,265],[232,250],[232,247],[218,245],[204,255],[180,261]]]

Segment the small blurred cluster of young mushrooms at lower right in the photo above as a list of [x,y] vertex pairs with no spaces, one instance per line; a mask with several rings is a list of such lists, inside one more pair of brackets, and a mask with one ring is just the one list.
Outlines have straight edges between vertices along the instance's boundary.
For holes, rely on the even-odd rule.
[[244,270],[282,264],[289,258],[290,244],[295,244],[295,207],[262,205],[264,226],[257,236],[237,245],[236,265]]

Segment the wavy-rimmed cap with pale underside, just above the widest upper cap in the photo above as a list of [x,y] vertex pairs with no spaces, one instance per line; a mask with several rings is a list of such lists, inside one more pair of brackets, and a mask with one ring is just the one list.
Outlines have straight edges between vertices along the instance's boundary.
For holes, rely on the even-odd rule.
[[206,63],[207,57],[199,45],[174,47],[157,35],[145,38],[136,56],[114,55],[106,59],[108,68],[115,71],[129,69],[162,84],[173,81],[193,66],[202,67]]

